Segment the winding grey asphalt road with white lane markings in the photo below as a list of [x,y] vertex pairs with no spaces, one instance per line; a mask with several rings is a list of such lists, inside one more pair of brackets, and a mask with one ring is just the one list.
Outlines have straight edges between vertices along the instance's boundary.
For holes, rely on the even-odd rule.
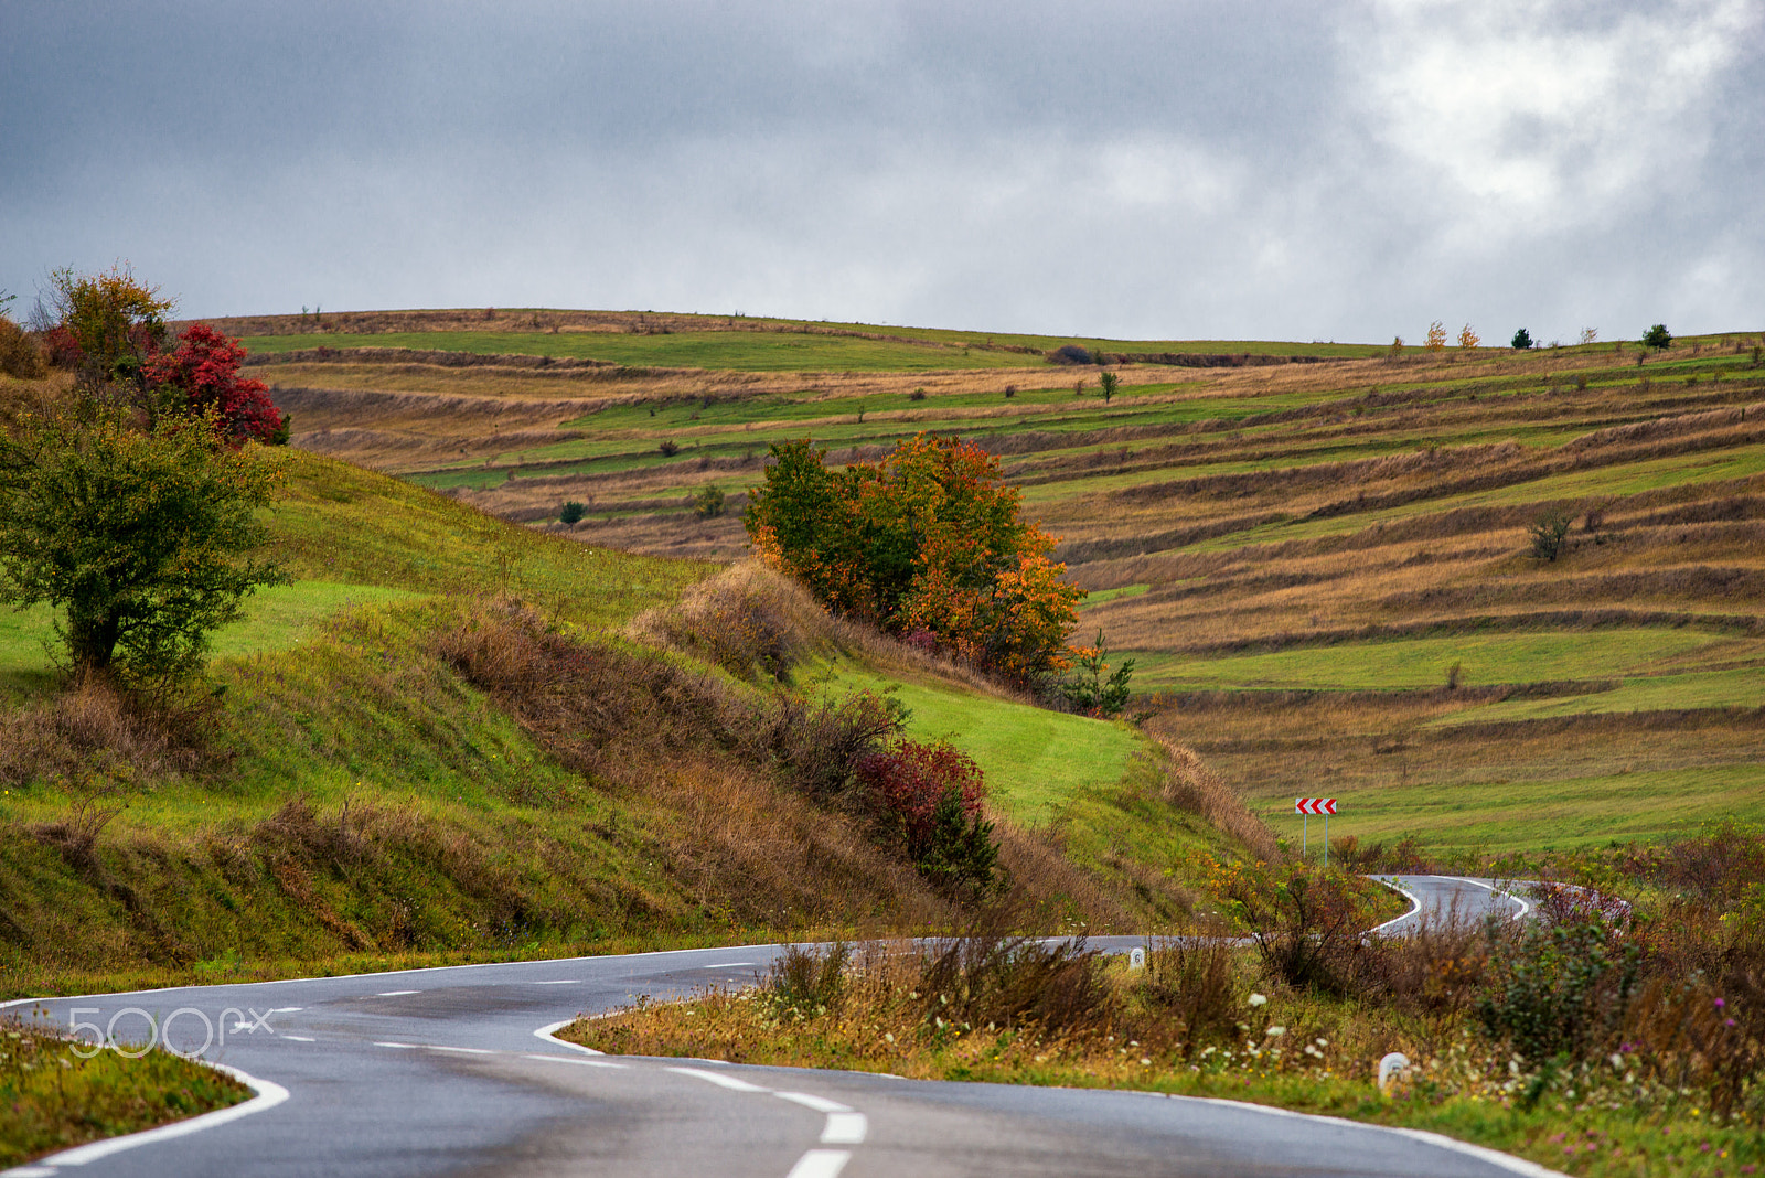
[[[1414,910],[1521,915],[1490,880],[1389,876]],[[1126,951],[1138,938],[1101,938]],[[549,1032],[748,984],[782,947],[695,949],[9,1003],[118,1042],[157,1025],[258,1099],[0,1178],[434,1174],[1548,1174],[1430,1134],[1133,1092],[612,1058]],[[150,1023],[152,1019],[152,1023]],[[203,1049],[205,1037],[208,1039]]]

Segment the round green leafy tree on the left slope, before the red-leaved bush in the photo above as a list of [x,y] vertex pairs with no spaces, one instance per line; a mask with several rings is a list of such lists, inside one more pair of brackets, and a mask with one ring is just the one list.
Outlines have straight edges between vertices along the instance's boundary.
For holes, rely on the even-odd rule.
[[173,682],[258,585],[254,511],[277,476],[215,441],[208,418],[150,430],[115,406],[28,416],[0,439],[0,601],[48,601],[76,674]]

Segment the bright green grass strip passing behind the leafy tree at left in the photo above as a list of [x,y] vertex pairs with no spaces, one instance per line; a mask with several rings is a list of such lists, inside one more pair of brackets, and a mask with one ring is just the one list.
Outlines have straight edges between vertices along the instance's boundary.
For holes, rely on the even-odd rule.
[[[297,580],[265,585],[244,601],[244,617],[214,633],[212,654],[229,658],[259,651],[286,651],[314,633],[325,619],[355,605],[379,605],[422,596],[385,585],[339,585]],[[48,605],[0,608],[0,686],[25,691],[53,674],[48,644],[55,615]]]

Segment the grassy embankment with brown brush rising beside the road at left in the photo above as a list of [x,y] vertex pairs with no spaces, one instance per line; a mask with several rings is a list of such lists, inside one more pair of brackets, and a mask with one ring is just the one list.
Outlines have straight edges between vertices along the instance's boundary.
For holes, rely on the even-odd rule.
[[[777,684],[627,633],[713,566],[514,527],[295,450],[261,460],[288,476],[270,526],[295,580],[219,635],[217,695],[171,718],[99,690],[56,695],[42,617],[0,644],[7,996],[951,919],[858,824],[791,787],[801,751],[770,719]],[[782,624],[826,630],[792,608]],[[856,675],[895,660],[907,691],[997,737],[983,758],[1006,862],[1045,919],[1188,919],[1193,889],[1161,843],[1094,869],[1063,855],[1047,799],[1017,801],[1029,778],[1010,771],[1031,744],[1055,760],[1107,749],[1063,778],[1070,809],[1131,804],[1156,832],[1181,808],[1160,794],[1154,746],[1027,707],[980,725],[990,690],[955,668],[881,638],[791,640]],[[1010,822],[1031,808],[1036,822]],[[1234,845],[1195,815],[1181,825]]]

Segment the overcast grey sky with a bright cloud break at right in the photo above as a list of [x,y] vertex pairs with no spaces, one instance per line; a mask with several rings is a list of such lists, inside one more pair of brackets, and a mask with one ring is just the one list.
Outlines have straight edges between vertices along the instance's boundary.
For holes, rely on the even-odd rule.
[[1765,0],[0,0],[0,287],[1145,339],[1765,328]]

